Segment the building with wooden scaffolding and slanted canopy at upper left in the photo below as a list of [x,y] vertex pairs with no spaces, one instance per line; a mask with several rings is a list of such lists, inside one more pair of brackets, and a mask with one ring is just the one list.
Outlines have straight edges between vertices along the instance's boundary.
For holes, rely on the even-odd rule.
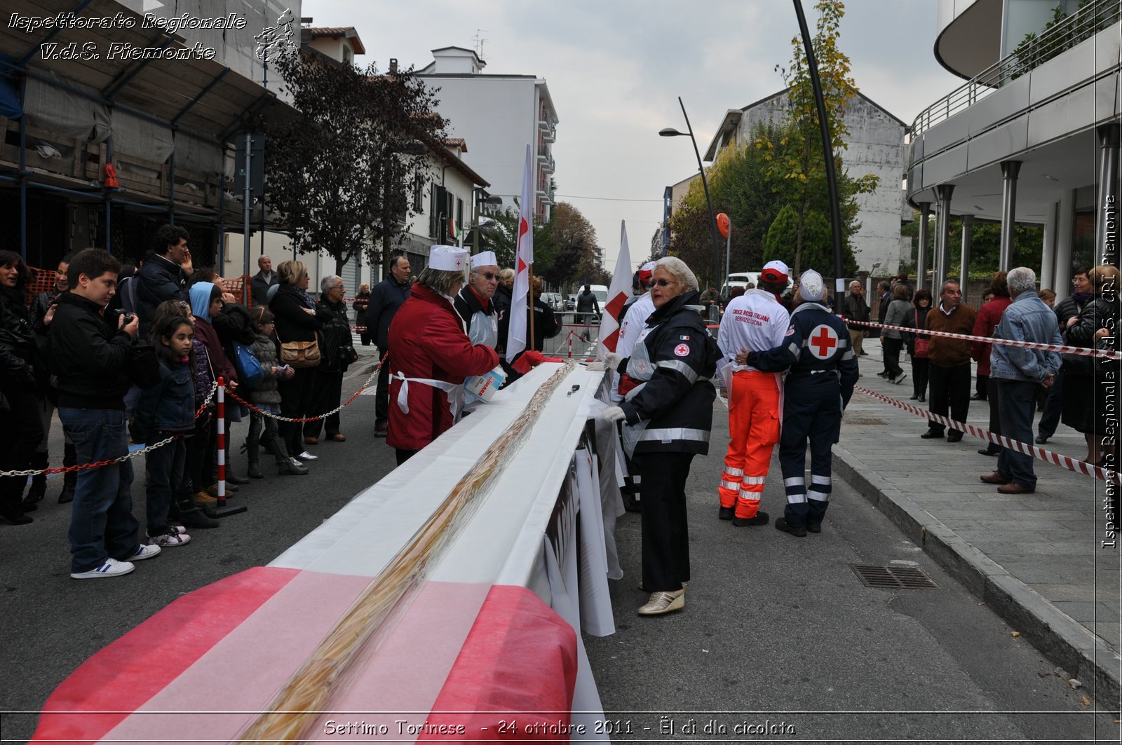
[[[232,138],[283,105],[261,85],[255,36],[272,27],[289,39],[278,18],[298,19],[300,0],[88,4],[4,3],[0,221],[37,267],[86,246],[139,258],[168,221],[191,231],[196,263],[213,261],[222,231],[240,222],[224,178]],[[75,20],[18,22],[43,17]],[[200,19],[221,28],[193,28]]]

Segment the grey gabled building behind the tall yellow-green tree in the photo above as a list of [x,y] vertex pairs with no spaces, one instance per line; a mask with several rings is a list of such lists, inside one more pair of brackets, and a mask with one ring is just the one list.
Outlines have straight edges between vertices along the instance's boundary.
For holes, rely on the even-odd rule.
[[[724,147],[749,141],[757,123],[782,122],[788,105],[784,89],[743,109],[729,109],[709,142],[705,160],[715,160]],[[911,250],[908,239],[900,236],[901,219],[911,219],[911,210],[902,212],[901,188],[908,126],[861,93],[849,101],[845,123],[849,129],[843,154],[846,171],[853,176],[873,174],[880,178],[875,191],[857,195],[861,229],[850,240],[857,267],[868,272],[879,265],[881,272],[896,272],[901,259],[910,258]]]

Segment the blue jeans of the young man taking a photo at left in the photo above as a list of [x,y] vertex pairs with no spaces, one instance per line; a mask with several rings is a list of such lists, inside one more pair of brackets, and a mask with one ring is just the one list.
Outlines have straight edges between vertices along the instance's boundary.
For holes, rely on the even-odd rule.
[[[79,463],[120,458],[129,451],[122,408],[58,407]],[[71,571],[85,572],[107,557],[127,560],[139,548],[140,523],[132,516],[132,461],[79,471],[71,507]]]

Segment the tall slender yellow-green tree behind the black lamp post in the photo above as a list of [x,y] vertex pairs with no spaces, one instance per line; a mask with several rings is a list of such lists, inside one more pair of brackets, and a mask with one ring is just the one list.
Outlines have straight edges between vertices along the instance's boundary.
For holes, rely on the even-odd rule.
[[[849,58],[838,47],[845,4],[842,0],[818,0],[815,9],[818,11],[818,21],[812,46],[818,63],[838,182],[838,201],[843,219],[843,265],[855,266],[849,238],[861,228],[857,222],[856,195],[876,188],[879,178],[872,174],[853,178],[842,162],[842,151],[846,148],[845,138],[849,134],[845,123],[845,112],[849,101],[857,94],[857,86],[849,74]],[[782,70],[783,80],[788,84],[788,111],[782,136],[778,140],[772,136],[761,137],[756,146],[763,149],[770,160],[767,172],[770,180],[795,213],[793,242],[789,247],[789,258],[785,260],[798,274],[810,264],[803,258],[808,227],[818,223],[822,218],[829,224],[830,210],[818,110],[806,52],[799,36],[791,40],[791,67]],[[817,265],[816,268],[831,274],[833,250],[828,257],[827,261]]]

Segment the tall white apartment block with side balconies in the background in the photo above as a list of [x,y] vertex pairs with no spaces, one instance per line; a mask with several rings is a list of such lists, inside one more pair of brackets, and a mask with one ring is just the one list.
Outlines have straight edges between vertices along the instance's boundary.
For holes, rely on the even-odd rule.
[[552,145],[558,114],[545,81],[484,73],[487,63],[461,47],[433,49],[432,56],[417,76],[440,89],[438,109],[450,121],[449,132],[471,142],[465,162],[487,175],[490,193],[502,197],[499,209],[506,209],[522,194],[528,145],[534,213],[548,220],[554,202]]

